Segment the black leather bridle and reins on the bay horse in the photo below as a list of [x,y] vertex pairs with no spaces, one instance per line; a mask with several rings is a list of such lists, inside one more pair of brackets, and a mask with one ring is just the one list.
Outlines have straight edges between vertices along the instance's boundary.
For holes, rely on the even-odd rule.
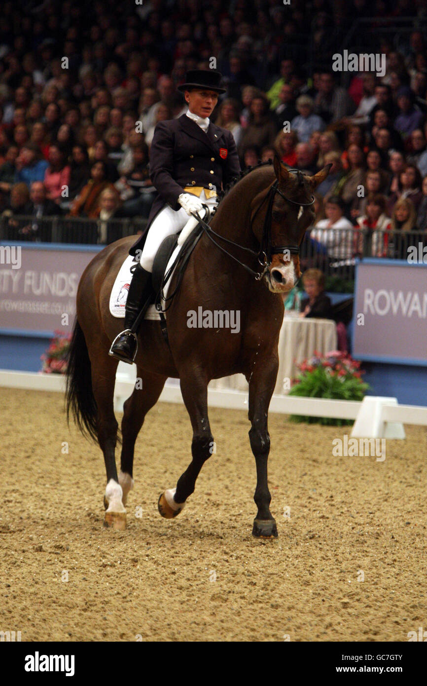
[[[301,175],[301,172],[299,169],[289,169],[288,171],[296,171],[298,176]],[[207,224],[204,220],[202,220],[197,213],[191,213],[195,219],[197,219],[204,229],[204,232],[208,236],[208,238],[212,241],[219,250],[222,250],[222,252],[225,252],[225,255],[228,255],[228,257],[231,257],[236,261],[241,267],[243,267],[249,274],[252,274],[252,276],[255,276],[256,281],[260,281],[263,279],[263,276],[267,272],[269,266],[271,265],[271,255],[277,255],[279,252],[284,253],[286,250],[291,254],[291,255],[299,255],[300,254],[300,246],[295,246],[295,245],[290,245],[290,246],[275,246],[271,243],[271,212],[273,209],[273,201],[274,201],[274,196],[276,193],[279,193],[280,196],[286,202],[291,202],[294,205],[297,205],[299,207],[310,207],[313,205],[315,202],[314,196],[310,200],[310,202],[297,202],[295,200],[291,200],[291,198],[286,198],[284,193],[280,191],[278,188],[278,180],[276,179],[275,182],[271,185],[269,192],[265,196],[264,200],[260,203],[260,205],[257,207],[254,216],[251,219],[251,228],[252,224],[254,223],[254,219],[256,215],[258,214],[258,211],[260,211],[261,207],[265,203],[266,200],[268,200],[267,204],[267,212],[265,213],[265,220],[264,220],[264,226],[263,226],[263,237],[261,239],[261,244],[260,244],[260,250],[258,252],[255,252],[255,250],[252,250],[251,248],[246,248],[245,246],[241,246],[239,243],[234,243],[234,241],[230,241],[230,239],[225,238],[224,236],[219,235],[219,233],[216,233],[209,224]],[[210,217],[210,209],[208,208],[208,205],[204,204],[204,209],[206,210],[206,219],[209,220]],[[221,239],[221,241],[225,241],[225,243],[228,243],[234,248],[240,248],[240,250],[245,250],[246,252],[249,252],[251,255],[254,255],[258,259],[258,262],[260,263],[261,267],[263,268],[262,272],[254,272],[250,267],[248,267],[247,264],[241,262],[239,259],[234,257],[234,255],[231,255],[230,252],[225,250],[222,246],[220,246],[217,241],[215,241],[213,236],[216,236],[217,238]]]

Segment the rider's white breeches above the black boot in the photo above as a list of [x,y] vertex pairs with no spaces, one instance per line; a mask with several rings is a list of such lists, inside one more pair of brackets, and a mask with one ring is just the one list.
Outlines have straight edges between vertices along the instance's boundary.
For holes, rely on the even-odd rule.
[[[206,198],[204,191],[200,193],[199,200],[208,205],[209,209],[212,210],[218,204],[218,198],[215,196],[212,198]],[[145,245],[143,248],[143,254],[141,255],[141,267],[143,267],[147,272],[153,271],[154,257],[156,257],[156,252],[160,247],[162,241],[173,233],[178,233],[184,228],[190,215],[186,213],[183,207],[175,211],[169,205],[164,207],[158,215],[156,215],[153,223],[151,224],[147,239],[145,239]]]

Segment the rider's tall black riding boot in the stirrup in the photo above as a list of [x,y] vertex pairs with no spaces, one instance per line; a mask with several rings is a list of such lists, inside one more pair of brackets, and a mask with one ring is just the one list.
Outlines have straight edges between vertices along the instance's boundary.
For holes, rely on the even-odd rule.
[[[136,263],[136,268],[132,276],[127,294],[126,309],[125,309],[125,329],[119,333],[111,344],[109,354],[117,357],[122,362],[133,364],[136,351],[138,348],[138,328],[139,322],[135,327],[136,318],[149,305],[149,297],[151,296],[151,274],[146,272],[139,262]],[[143,315],[141,315],[141,319]]]

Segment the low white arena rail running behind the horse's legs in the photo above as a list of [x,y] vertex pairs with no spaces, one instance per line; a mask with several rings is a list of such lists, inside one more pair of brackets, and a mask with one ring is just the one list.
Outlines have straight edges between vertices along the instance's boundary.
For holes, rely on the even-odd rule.
[[[120,363],[122,364],[122,363]],[[133,374],[136,373],[134,368]],[[123,412],[123,402],[130,396],[135,381],[129,372],[117,372],[114,388],[114,410]],[[65,377],[61,374],[42,374],[36,372],[14,372],[0,370],[0,386],[22,388],[25,390],[47,390],[64,392]],[[182,403],[178,381],[164,386],[160,401]],[[210,407],[223,407],[226,410],[247,410],[247,392],[208,388]],[[270,412],[280,414],[300,414],[337,419],[354,419],[352,437],[355,438],[405,438],[404,424],[427,426],[427,407],[399,405],[395,398],[366,396],[362,402],[327,400],[321,398],[302,398],[286,395],[273,395]]]

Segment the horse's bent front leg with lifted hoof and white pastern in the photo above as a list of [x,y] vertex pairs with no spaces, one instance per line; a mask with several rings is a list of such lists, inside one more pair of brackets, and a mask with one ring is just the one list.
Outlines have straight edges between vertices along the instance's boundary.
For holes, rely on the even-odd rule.
[[212,454],[213,438],[208,420],[208,382],[202,374],[191,370],[182,374],[181,392],[193,427],[191,455],[193,459],[178,479],[176,488],[169,488],[160,495],[158,510],[162,517],[171,519],[180,514],[185,501],[195,489],[195,482],[204,462]]

